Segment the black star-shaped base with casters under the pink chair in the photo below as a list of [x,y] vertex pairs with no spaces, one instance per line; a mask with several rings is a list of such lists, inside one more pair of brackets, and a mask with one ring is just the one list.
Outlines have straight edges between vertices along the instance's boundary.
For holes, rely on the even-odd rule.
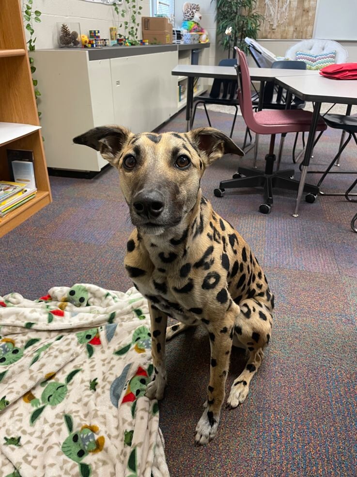
[[[225,189],[240,189],[251,187],[262,187],[264,189],[264,204],[259,207],[262,213],[269,213],[274,202],[273,189],[285,189],[297,192],[299,189],[299,181],[294,180],[294,169],[287,171],[273,172],[275,161],[274,154],[265,156],[265,171],[248,167],[239,167],[238,173],[233,175],[233,179],[223,180],[219,183],[219,189],[215,189],[216,197],[222,197]],[[244,175],[245,177],[239,177]],[[319,188],[310,184],[305,184],[304,192],[308,193],[307,202],[314,202],[315,196],[319,193]]]

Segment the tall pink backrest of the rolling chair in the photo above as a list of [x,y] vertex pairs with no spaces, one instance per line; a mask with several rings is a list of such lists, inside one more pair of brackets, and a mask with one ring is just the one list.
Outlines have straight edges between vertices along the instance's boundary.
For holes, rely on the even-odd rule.
[[242,111],[242,116],[246,125],[249,127],[249,129],[255,132],[257,123],[253,114],[253,105],[250,93],[250,76],[246,55],[239,48],[234,47],[234,49],[237,52],[236,69],[238,76],[239,107]]

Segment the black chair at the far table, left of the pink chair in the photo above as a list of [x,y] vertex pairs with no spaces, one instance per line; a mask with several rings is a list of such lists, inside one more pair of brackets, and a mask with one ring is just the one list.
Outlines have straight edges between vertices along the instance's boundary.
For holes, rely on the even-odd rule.
[[[229,59],[221,60],[218,66],[233,67],[235,64],[237,64],[237,60],[235,58],[229,58]],[[238,113],[238,105],[239,105],[239,101],[237,99],[237,80],[236,79],[220,79],[220,78],[214,79],[209,96],[204,96],[204,95],[196,96],[193,98],[193,102],[196,104],[195,104],[193,115],[192,115],[192,126],[195,120],[196,109],[199,104],[203,104],[204,111],[206,112],[208,124],[210,126],[212,125],[208,115],[206,104],[234,106],[235,114],[233,118],[230,138],[232,137],[235,120],[237,118],[237,113]]]

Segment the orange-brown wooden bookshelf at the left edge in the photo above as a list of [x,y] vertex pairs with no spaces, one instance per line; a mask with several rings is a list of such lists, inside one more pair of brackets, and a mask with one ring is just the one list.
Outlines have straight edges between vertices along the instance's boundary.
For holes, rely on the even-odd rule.
[[6,149],[33,151],[37,194],[0,219],[0,237],[52,200],[19,0],[0,8],[0,180],[9,180]]

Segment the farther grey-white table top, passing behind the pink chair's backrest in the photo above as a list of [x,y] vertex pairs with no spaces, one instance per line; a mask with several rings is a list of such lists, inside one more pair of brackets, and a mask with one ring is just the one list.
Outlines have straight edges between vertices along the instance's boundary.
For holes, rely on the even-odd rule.
[[[233,66],[209,66],[205,64],[178,64],[171,71],[173,76],[200,78],[234,79],[237,76]],[[257,81],[273,81],[277,76],[317,76],[318,71],[292,70],[283,68],[249,68],[250,79]]]

